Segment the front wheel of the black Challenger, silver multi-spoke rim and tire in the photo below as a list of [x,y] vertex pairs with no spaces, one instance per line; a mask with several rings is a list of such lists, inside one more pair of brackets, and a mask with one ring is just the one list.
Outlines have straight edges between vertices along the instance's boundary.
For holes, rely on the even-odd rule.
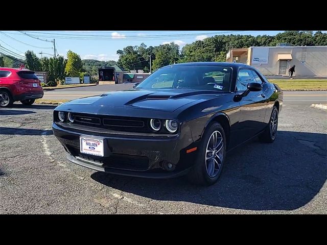
[[218,122],[205,130],[196,162],[188,178],[192,183],[213,185],[218,181],[226,156],[226,136]]

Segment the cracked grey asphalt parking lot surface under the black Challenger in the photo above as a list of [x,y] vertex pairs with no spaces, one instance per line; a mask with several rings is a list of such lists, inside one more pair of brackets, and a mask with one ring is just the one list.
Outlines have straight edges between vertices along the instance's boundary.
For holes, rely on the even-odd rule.
[[218,183],[114,176],[66,161],[54,106],[0,109],[0,213],[327,214],[327,113],[286,104],[273,144],[228,155]]

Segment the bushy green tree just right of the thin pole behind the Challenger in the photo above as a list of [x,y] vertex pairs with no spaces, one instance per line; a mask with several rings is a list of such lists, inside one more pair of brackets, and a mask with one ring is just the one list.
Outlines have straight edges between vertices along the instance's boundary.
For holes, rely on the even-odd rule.
[[175,64],[179,61],[179,46],[173,42],[155,46],[153,53],[155,60],[153,61],[153,69],[158,69],[165,65]]

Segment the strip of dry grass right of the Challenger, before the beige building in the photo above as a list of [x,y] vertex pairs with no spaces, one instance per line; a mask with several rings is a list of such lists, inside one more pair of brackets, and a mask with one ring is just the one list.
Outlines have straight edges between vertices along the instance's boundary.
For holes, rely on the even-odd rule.
[[327,89],[327,79],[269,79],[283,90]]

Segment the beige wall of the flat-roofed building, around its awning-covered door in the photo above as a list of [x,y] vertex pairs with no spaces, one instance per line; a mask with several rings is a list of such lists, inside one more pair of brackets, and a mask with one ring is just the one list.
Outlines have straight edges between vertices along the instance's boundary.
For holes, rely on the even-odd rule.
[[[268,64],[251,64],[264,75],[278,75],[278,54],[291,54],[288,67],[295,65],[295,76],[327,76],[327,46],[307,46],[305,63],[301,62],[303,47],[270,47]],[[252,48],[250,52],[252,53]],[[251,62],[251,60],[249,59]],[[287,68],[288,68],[287,67]],[[287,74],[285,74],[287,75]]]

